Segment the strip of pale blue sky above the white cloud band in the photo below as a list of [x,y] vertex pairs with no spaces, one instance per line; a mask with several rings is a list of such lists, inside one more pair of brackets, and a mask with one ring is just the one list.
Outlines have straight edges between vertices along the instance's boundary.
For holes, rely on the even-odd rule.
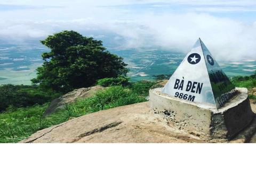
[[[76,6],[77,4],[77,6]],[[81,8],[82,7],[82,8]],[[147,12],[161,13],[208,13],[218,17],[227,17],[238,19],[245,22],[254,22],[256,3],[254,1],[1,1],[0,12],[9,11],[10,13],[23,13],[24,11],[33,11],[32,13],[42,12],[43,10],[76,11],[88,10],[88,15],[92,11],[98,11],[105,8],[105,12],[114,10],[116,14],[142,14]],[[107,10],[106,10],[107,9]],[[33,18],[33,16],[23,15],[24,19]],[[78,16],[76,16],[78,17]],[[75,17],[75,18],[76,18]],[[7,16],[8,18],[8,16]],[[10,16],[10,19],[15,17]],[[17,17],[18,18],[18,17]],[[54,18],[59,18],[55,15]],[[73,15],[73,19],[74,15]],[[116,15],[118,18],[118,15]],[[43,19],[43,18],[42,18]],[[45,15],[45,19],[49,19]],[[65,19],[65,18],[64,18]],[[70,19],[70,18],[69,18]],[[114,19],[114,18],[113,18]]]

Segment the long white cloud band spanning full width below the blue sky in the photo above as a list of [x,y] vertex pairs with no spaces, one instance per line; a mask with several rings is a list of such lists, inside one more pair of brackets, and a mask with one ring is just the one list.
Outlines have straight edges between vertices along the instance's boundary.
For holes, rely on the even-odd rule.
[[[157,46],[183,53],[189,52],[201,37],[212,55],[219,60],[256,58],[256,24],[243,24],[207,14],[147,14],[134,21],[95,21],[91,18],[41,22],[2,21],[0,25],[0,37],[13,40],[42,39],[60,30],[107,30],[118,35],[110,37],[113,40],[124,39],[124,44],[119,48]],[[100,39],[106,35],[101,33],[94,37]]]

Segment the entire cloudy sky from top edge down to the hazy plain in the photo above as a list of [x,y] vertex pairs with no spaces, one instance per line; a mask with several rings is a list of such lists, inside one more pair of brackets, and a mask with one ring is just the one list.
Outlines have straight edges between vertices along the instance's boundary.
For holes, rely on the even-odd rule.
[[256,1],[0,0],[0,40],[6,44],[62,30],[121,50],[188,53],[200,37],[217,60],[256,59]]

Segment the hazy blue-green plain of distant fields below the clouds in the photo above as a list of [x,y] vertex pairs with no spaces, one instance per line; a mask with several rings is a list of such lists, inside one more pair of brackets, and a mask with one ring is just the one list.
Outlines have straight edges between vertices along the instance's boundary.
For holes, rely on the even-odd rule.
[[[187,55],[161,49],[107,50],[124,58],[130,69],[127,75],[131,81],[154,80],[153,75],[172,74]],[[43,63],[41,54],[46,51],[46,47],[0,48],[0,85],[31,84],[30,80],[36,77],[35,70]],[[217,61],[228,77],[255,72],[256,60]]]

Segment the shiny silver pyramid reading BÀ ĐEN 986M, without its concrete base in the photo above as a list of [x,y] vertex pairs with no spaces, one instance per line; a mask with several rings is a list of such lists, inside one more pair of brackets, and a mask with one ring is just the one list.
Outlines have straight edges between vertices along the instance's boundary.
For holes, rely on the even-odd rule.
[[162,92],[180,99],[214,105],[218,109],[234,96],[236,90],[199,38]]

